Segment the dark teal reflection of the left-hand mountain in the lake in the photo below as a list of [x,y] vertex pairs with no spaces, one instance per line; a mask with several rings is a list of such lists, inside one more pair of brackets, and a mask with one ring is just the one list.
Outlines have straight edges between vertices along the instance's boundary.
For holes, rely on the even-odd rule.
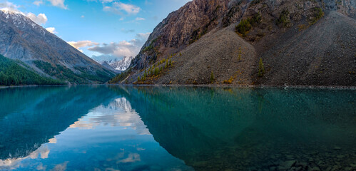
[[116,97],[105,86],[0,89],[0,160],[26,157]]

